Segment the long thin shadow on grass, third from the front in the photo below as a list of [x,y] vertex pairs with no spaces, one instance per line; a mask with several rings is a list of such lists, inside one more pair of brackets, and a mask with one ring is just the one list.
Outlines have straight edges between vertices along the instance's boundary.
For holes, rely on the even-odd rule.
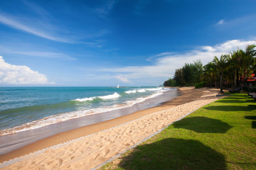
[[205,109],[210,111],[253,111],[256,109],[254,105],[249,106],[208,106]]

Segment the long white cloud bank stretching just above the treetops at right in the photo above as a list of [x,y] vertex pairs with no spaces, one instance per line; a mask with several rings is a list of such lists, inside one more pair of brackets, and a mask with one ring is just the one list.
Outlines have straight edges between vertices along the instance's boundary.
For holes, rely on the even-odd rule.
[[107,68],[102,69],[102,71],[122,74],[123,77],[126,77],[135,83],[150,80],[151,82],[157,81],[155,84],[161,84],[161,81],[164,81],[164,79],[173,77],[175,69],[183,67],[183,64],[185,63],[201,60],[203,64],[207,64],[213,60],[214,56],[220,57],[220,55],[228,54],[233,50],[238,50],[238,47],[240,49],[245,49],[247,45],[251,44],[256,44],[256,41],[230,40],[214,46],[198,47],[196,48],[197,50],[191,50],[190,52],[181,54],[163,52],[159,55],[154,55],[159,57],[152,65],[142,67],[130,66],[111,69]]

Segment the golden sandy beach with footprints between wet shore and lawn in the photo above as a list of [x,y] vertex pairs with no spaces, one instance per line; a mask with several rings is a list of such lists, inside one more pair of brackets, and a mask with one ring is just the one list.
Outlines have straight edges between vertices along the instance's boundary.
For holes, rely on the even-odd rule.
[[[161,106],[62,132],[9,154],[1,169],[93,169],[172,122],[218,98],[218,89],[179,88]],[[10,160],[11,159],[11,160]]]

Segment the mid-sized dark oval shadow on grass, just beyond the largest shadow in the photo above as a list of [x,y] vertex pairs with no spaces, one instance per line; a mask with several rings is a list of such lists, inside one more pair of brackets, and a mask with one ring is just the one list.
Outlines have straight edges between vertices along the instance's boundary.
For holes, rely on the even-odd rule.
[[183,118],[173,125],[174,128],[183,128],[199,133],[225,133],[232,128],[221,120],[206,117]]

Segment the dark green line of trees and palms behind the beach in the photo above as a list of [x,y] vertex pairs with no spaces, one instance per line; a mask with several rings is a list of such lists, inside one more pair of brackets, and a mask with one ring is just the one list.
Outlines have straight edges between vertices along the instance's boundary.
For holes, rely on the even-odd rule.
[[174,77],[164,81],[164,86],[196,86],[200,88],[220,88],[223,92],[223,82],[230,89],[245,88],[247,79],[256,73],[256,45],[247,45],[245,50],[230,52],[230,54],[213,57],[208,64],[201,60],[186,63],[182,68],[176,69]]

